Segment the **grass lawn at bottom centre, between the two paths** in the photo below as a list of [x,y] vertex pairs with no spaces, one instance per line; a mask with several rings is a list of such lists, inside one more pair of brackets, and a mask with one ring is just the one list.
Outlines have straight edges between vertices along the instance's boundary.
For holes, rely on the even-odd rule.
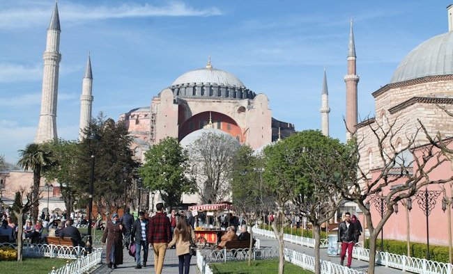
[[[214,274],[267,274],[267,273],[278,273],[278,259],[268,259],[263,261],[252,261],[250,267],[247,265],[247,261],[230,261],[227,263],[215,263],[210,264],[210,269]],[[306,271],[299,266],[285,262],[284,273],[287,274],[309,274],[310,271]]]

